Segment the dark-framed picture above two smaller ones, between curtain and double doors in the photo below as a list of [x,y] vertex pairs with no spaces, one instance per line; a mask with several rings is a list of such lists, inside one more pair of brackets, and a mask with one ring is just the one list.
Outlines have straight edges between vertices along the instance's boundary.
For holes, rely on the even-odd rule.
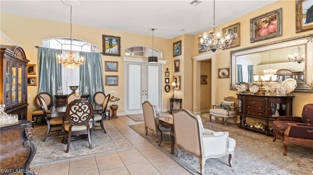
[[121,37],[102,35],[102,55],[121,56]]

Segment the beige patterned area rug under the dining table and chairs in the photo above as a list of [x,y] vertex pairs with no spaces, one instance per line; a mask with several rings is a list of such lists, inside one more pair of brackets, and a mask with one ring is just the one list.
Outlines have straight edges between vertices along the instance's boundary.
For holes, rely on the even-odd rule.
[[[54,163],[71,158],[97,155],[133,148],[133,143],[119,131],[111,121],[105,120],[104,126],[107,134],[104,134],[101,127],[97,131],[91,132],[92,149],[89,149],[88,140],[74,140],[70,142],[69,152],[66,153],[67,145],[61,143],[63,134],[56,136],[57,132],[50,133],[46,141],[46,125],[35,125],[35,135],[33,141],[37,145],[37,151],[30,166]],[[61,132],[62,133],[62,132]]]

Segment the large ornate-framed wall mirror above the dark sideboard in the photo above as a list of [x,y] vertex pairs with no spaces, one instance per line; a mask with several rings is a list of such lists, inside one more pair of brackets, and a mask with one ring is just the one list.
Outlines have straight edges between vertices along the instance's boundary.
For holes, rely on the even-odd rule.
[[[297,81],[294,92],[313,93],[312,39],[313,35],[306,35],[231,51],[230,89],[236,90],[240,82],[258,80],[279,86],[285,79],[294,78]],[[289,59],[294,53],[303,60]]]

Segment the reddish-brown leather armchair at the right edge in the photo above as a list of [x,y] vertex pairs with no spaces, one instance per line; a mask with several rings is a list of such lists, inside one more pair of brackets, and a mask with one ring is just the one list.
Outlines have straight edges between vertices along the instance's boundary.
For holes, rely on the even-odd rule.
[[313,148],[313,104],[306,104],[302,117],[277,116],[273,121],[274,139],[281,139],[284,144],[284,156],[287,155],[288,144],[295,143]]

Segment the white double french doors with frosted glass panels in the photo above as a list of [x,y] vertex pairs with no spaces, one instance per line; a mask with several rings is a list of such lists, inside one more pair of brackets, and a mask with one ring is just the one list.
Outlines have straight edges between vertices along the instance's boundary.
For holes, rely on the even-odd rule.
[[158,63],[125,62],[125,115],[142,114],[142,103],[162,107],[162,66]]

